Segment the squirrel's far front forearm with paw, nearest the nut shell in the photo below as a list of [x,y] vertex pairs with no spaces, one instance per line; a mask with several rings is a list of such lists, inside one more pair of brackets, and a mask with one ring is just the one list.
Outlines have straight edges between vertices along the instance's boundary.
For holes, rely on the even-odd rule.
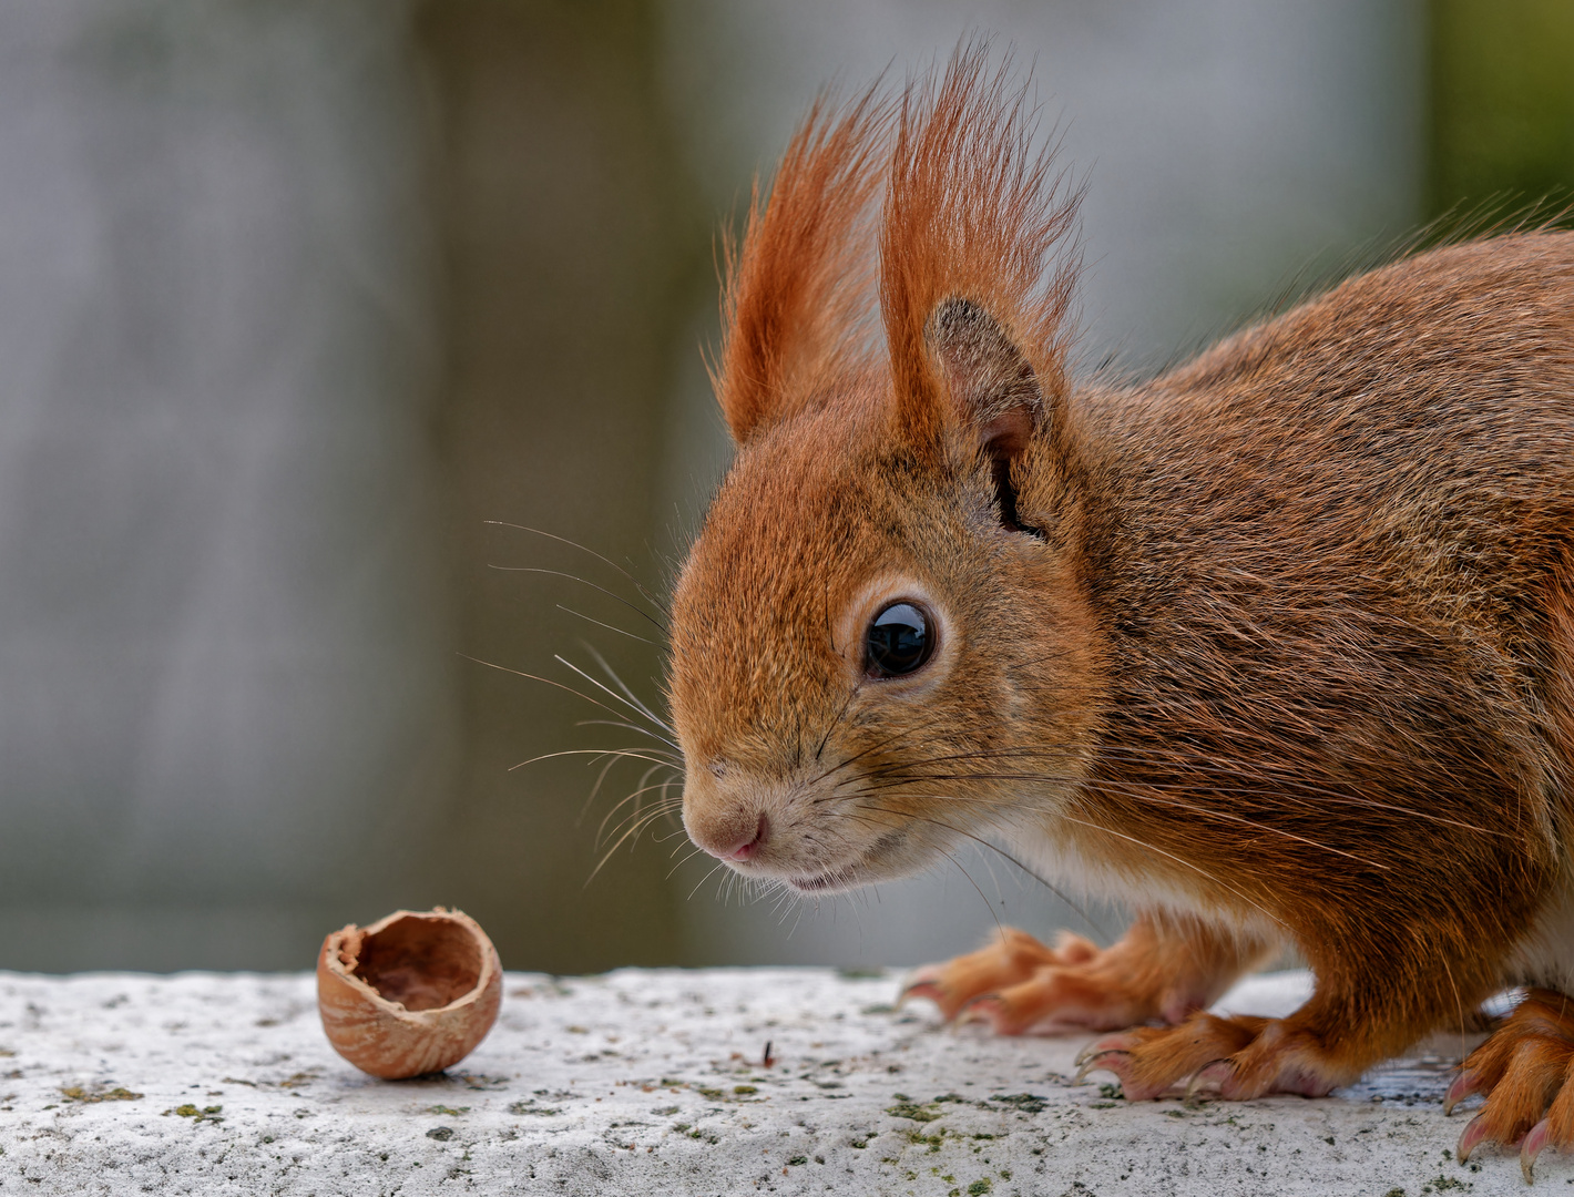
[[1269,945],[1195,919],[1143,915],[1116,944],[1061,933],[1055,947],[1004,930],[977,952],[918,969],[902,997],[1001,1035],[1113,1030],[1177,1022],[1220,994]]

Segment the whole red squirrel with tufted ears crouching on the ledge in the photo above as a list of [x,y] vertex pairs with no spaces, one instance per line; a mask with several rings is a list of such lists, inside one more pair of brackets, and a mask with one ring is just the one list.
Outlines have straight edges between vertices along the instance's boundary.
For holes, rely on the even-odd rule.
[[[683,821],[826,893],[970,840],[1138,909],[910,994],[1324,1095],[1508,986],[1459,1140],[1574,1147],[1574,233],[1070,376],[1075,189],[977,50],[820,104],[727,263],[737,459],[674,593]],[[1288,1018],[1206,1013],[1294,945]],[[1086,1068],[1084,1068],[1086,1071]]]

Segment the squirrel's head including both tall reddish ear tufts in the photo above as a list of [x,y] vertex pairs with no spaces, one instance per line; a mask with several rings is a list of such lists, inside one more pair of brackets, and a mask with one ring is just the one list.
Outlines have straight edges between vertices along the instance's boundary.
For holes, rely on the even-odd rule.
[[1099,650],[1051,256],[1073,209],[976,50],[817,109],[751,208],[716,371],[738,455],[669,681],[685,826],[746,876],[910,873],[1075,785]]

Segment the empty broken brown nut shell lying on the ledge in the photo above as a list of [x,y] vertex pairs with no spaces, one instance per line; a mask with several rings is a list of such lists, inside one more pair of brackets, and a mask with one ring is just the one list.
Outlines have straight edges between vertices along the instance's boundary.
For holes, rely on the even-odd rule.
[[436,1073],[474,1051],[502,1004],[502,963],[461,911],[394,911],[323,941],[316,1005],[334,1051],[387,1081]]

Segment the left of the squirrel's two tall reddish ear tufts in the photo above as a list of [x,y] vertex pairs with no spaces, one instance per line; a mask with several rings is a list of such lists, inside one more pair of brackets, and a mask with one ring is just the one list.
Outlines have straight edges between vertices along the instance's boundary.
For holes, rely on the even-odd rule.
[[[726,258],[724,343],[711,373],[732,437],[811,407],[867,355],[867,215],[881,182],[891,104],[874,90],[841,110],[822,98],[759,184],[743,244]],[[866,233],[866,236],[858,236]]]

